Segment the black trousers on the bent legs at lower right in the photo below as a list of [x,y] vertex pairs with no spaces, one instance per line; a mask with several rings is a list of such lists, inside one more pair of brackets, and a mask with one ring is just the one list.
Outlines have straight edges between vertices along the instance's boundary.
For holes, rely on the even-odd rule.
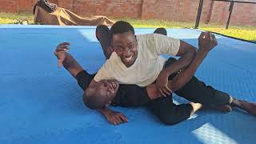
[[[170,66],[177,61],[175,58],[169,58],[165,66]],[[169,79],[174,78],[176,74],[170,75]],[[206,86],[198,78],[192,77],[185,86],[174,92],[182,98],[186,98],[190,102],[198,102],[205,106],[224,106],[230,104],[230,95],[222,91],[215,90],[212,86]],[[156,115],[159,120],[166,125],[174,125],[190,118],[190,104],[176,105],[173,102],[172,95],[161,97],[149,102],[147,108]]]

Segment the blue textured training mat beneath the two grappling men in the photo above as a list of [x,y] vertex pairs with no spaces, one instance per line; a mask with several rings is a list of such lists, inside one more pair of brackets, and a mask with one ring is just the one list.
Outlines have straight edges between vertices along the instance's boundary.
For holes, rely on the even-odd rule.
[[[0,26],[0,143],[254,143],[256,117],[234,110],[202,110],[186,122],[165,126],[145,108],[114,107],[129,119],[111,126],[82,103],[82,90],[53,51],[70,42],[70,54],[93,73],[105,58],[94,26]],[[154,29],[136,29],[136,34]],[[198,30],[168,35],[198,45]],[[218,46],[197,76],[218,90],[256,102],[256,45],[217,36]],[[186,100],[174,97],[176,102]]]

